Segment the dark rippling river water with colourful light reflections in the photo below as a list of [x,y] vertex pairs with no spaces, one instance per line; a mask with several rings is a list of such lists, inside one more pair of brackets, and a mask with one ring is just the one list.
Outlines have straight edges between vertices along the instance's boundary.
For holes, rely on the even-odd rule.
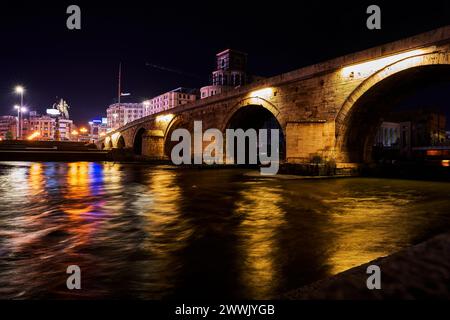
[[3,162],[0,194],[0,298],[274,298],[450,230],[450,183]]

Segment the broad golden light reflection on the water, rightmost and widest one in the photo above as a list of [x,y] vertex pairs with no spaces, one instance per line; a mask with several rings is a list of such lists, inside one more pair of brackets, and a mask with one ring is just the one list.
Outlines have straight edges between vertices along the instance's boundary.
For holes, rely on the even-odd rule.
[[[324,230],[336,234],[333,243],[330,243],[327,259],[330,275],[387,256],[401,248],[397,247],[395,239],[407,239],[409,230],[398,221],[399,217],[408,219],[407,213],[399,212],[402,208],[399,201],[386,199],[380,203],[379,197],[340,197],[326,201],[336,207],[330,215],[330,230]],[[407,203],[405,200],[404,205]]]

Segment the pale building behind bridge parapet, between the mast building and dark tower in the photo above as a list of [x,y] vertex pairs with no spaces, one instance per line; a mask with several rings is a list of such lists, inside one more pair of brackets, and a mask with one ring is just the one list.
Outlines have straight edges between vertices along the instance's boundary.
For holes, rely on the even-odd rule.
[[166,111],[196,99],[197,94],[194,89],[180,87],[144,101],[144,116]]

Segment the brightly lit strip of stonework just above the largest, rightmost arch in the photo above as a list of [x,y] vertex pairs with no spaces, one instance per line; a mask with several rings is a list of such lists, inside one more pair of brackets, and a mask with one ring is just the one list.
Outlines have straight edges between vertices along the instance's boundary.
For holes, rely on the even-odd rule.
[[414,56],[420,56],[429,52],[429,50],[425,49],[417,49],[407,52],[402,52],[398,54],[394,54],[391,56],[370,60],[363,63],[354,64],[348,67],[342,68],[342,75],[346,78],[348,77],[364,77],[370,75],[371,73],[375,73],[388,65],[391,65],[395,62],[401,61],[406,58],[411,58]]

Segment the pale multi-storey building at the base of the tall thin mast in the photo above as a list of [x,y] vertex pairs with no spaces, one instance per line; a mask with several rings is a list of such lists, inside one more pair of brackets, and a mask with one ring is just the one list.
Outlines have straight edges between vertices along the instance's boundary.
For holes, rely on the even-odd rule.
[[142,103],[115,103],[106,109],[108,131],[123,127],[144,116]]

